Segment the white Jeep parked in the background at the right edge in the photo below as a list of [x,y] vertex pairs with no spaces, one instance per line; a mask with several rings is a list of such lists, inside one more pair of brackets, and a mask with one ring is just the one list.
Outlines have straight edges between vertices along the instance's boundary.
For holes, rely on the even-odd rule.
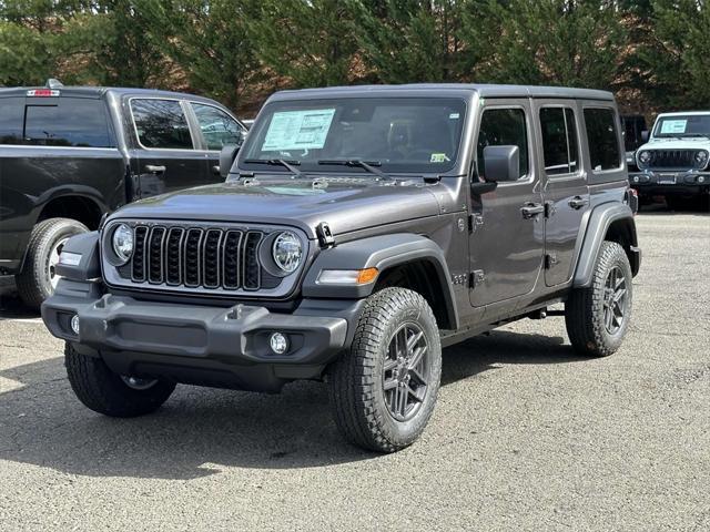
[[665,196],[671,208],[710,208],[710,111],[663,113],[636,152],[629,182],[641,201]]

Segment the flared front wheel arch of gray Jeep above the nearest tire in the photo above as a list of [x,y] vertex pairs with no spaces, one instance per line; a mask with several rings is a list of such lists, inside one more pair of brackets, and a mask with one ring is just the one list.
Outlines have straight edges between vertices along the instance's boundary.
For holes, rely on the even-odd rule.
[[[323,269],[378,269],[377,279],[359,286],[321,285]],[[459,326],[450,274],[442,248],[414,234],[382,235],[322,250],[306,274],[304,297],[362,299],[388,286],[419,293],[443,329]]]

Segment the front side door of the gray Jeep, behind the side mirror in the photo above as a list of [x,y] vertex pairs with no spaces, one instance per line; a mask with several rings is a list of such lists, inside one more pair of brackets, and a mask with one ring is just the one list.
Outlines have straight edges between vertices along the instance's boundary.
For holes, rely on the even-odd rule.
[[485,180],[486,146],[517,145],[520,177],[471,196],[470,303],[479,307],[530,293],[542,263],[545,213],[539,177],[531,163],[531,110],[527,99],[486,100],[479,116],[476,168]]

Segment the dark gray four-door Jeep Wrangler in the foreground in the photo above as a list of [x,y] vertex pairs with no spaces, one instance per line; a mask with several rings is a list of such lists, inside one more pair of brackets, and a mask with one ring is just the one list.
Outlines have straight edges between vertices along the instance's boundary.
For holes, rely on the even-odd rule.
[[550,314],[577,352],[620,346],[641,259],[622,146],[601,91],[280,92],[223,150],[223,184],[71,238],[42,317],[98,412],[151,412],[178,382],[322,379],[345,438],[396,451],[432,416],[445,346]]

